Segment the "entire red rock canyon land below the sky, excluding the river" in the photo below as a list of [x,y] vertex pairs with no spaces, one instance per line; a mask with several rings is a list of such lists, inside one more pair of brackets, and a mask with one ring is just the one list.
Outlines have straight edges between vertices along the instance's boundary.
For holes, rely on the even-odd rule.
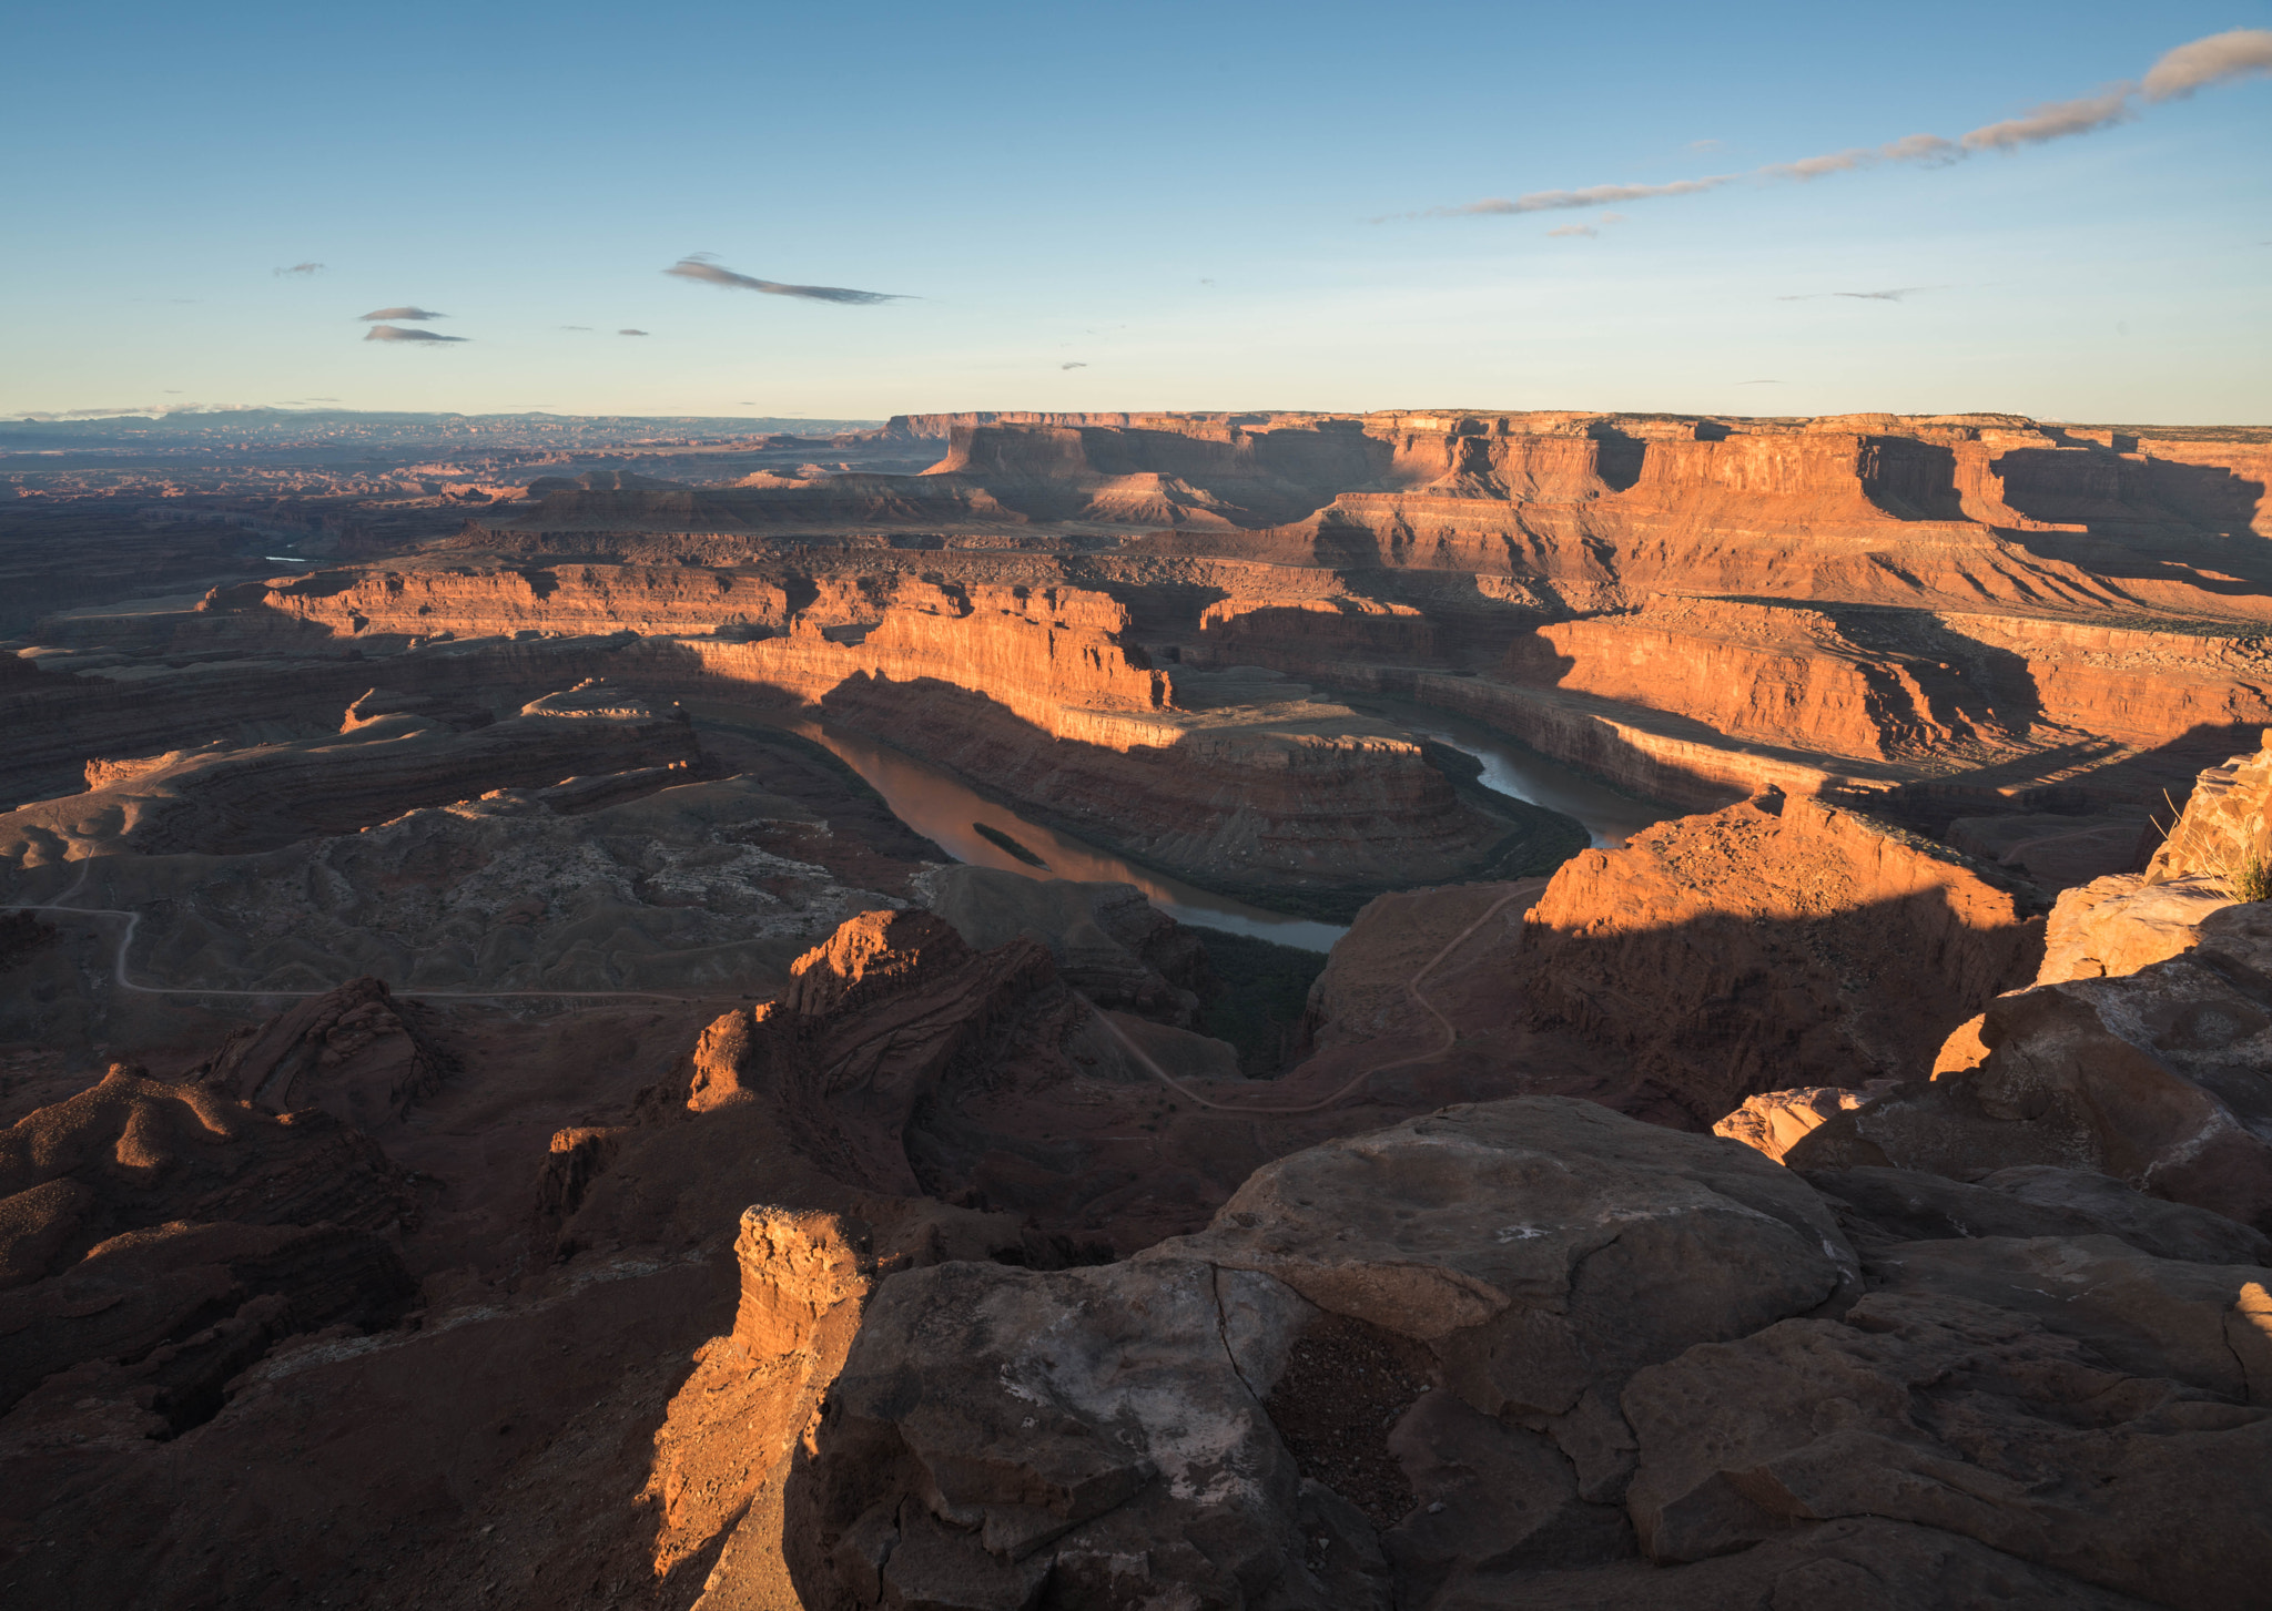
[[0,518],[9,1606],[2263,1602],[2272,432],[611,452]]

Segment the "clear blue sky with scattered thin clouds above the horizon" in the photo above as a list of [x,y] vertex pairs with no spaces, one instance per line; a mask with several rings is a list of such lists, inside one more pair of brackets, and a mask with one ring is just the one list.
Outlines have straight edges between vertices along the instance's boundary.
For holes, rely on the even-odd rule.
[[20,7],[0,414],[2263,425],[2256,30],[2272,5]]

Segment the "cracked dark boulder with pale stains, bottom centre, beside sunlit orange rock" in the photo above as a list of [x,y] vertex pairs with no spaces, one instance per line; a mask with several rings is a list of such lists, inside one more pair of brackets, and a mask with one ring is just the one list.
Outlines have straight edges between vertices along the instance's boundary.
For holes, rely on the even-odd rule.
[[1370,1525],[1263,1411],[1309,1316],[1197,1259],[891,1279],[791,1493],[804,1604],[1386,1611]]

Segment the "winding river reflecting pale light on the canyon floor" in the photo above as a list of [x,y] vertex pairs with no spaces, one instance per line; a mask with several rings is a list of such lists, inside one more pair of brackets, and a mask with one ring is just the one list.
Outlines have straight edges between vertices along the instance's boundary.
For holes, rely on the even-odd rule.
[[[1365,704],[1375,704],[1375,700],[1368,700]],[[1574,816],[1586,825],[1586,832],[1593,834],[1593,843],[1597,845],[1620,845],[1627,834],[1672,816],[1670,809],[1652,809],[1640,800],[1620,795],[1613,788],[1595,784],[1565,766],[1522,750],[1520,745],[1500,738],[1488,727],[1479,727],[1459,716],[1447,716],[1418,704],[1397,704],[1395,709],[1384,704],[1381,709],[1395,720],[1409,725],[1415,734],[1425,734],[1479,759],[1484,763],[1481,782],[1490,788],[1513,795],[1515,800],[1529,800],[1531,804],[1543,804]],[[738,718],[752,723],[761,720],[754,713],[738,713]],[[1334,950],[1334,941],[1347,934],[1345,927],[1334,923],[1288,918],[1281,911],[1263,911],[1261,907],[1250,907],[1243,900],[1216,895],[1213,891],[1184,884],[1166,873],[1154,873],[1152,868],[1122,861],[1113,852],[1100,850],[1086,841],[1052,832],[1038,823],[1027,823],[1009,807],[986,800],[945,768],[920,761],[904,750],[893,750],[891,745],[868,738],[866,734],[786,716],[763,725],[793,732],[800,738],[825,748],[838,761],[859,773],[861,779],[884,798],[884,804],[891,807],[895,818],[929,838],[957,861],[979,868],[1000,868],[1002,873],[1018,873],[1020,877],[1034,879],[1061,877],[1102,884],[1134,884],[1145,893],[1145,900],[1177,923],[1191,923],[1202,929],[1222,929],[1229,934],[1247,934],[1259,941],[1293,945],[1297,950],[1327,952]],[[977,832],[979,825],[1018,841],[1045,866],[1036,868],[1020,861],[1002,845],[984,838]]]

